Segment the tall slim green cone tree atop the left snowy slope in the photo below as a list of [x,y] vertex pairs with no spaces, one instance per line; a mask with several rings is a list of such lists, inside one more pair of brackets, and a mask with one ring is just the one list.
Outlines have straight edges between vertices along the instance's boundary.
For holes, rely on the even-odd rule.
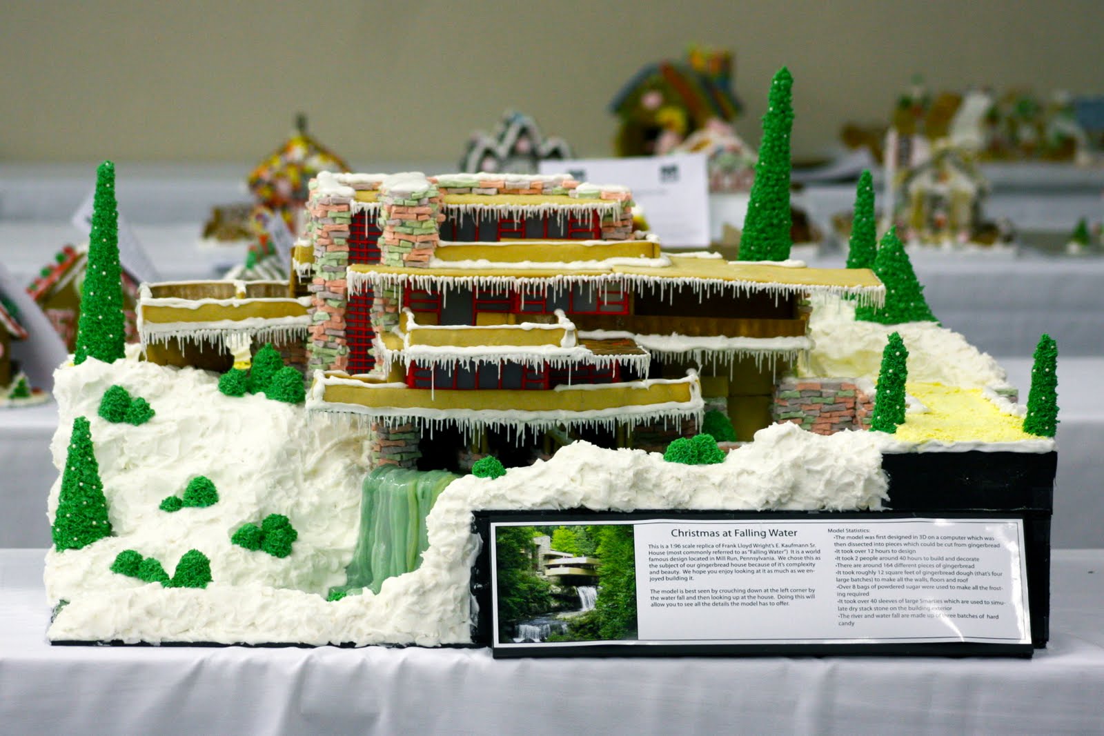
[[123,270],[119,267],[119,213],[115,205],[115,164],[96,169],[88,265],[81,287],[74,362],[95,358],[110,363],[123,358]]

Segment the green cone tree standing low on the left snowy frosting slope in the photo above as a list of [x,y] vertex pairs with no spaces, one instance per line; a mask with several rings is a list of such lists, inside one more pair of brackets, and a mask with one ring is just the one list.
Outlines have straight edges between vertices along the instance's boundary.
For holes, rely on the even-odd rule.
[[85,417],[73,420],[52,532],[54,548],[59,552],[79,550],[112,535],[107,499],[92,445],[92,429]]

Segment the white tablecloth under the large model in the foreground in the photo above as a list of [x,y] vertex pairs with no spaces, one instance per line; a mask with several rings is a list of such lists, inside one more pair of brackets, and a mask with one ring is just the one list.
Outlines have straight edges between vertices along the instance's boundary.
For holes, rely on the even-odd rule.
[[1055,554],[1051,643],[1032,660],[50,647],[41,576],[41,551],[0,551],[7,734],[1090,734],[1104,724],[1102,551]]

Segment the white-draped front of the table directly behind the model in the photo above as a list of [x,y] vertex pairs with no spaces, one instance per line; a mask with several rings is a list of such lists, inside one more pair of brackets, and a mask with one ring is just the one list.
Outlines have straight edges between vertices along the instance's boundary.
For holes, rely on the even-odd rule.
[[[1030,359],[1000,359],[1009,380],[1027,401]],[[1102,358],[1059,359],[1058,489],[1054,493],[1054,547],[1104,546],[1104,494],[1101,451],[1104,450],[1104,376]],[[0,546],[50,544],[44,513],[50,486],[57,477],[50,439],[57,425],[53,403],[0,410]]]

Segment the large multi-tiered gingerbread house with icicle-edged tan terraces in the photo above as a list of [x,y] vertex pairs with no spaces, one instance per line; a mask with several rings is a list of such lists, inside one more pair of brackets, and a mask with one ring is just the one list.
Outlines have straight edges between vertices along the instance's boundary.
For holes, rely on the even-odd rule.
[[563,174],[311,188],[309,406],[375,424],[381,461],[417,463],[420,441],[434,458],[580,437],[658,448],[707,408],[747,439],[810,346],[805,295],[884,292],[869,270],[665,254],[634,231],[625,188]]

